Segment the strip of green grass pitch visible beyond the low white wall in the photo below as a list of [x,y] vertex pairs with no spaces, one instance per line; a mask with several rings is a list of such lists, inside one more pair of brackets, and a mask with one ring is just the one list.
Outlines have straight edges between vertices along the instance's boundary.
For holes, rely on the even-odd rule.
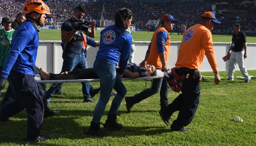
[[[96,31],[96,37],[94,38],[95,41],[99,41],[100,37],[99,30]],[[154,32],[147,32],[147,31],[136,31],[132,32],[132,37],[134,41],[151,41],[152,35]],[[61,31],[60,30],[41,30],[39,32],[39,39],[41,41],[61,41]],[[181,41],[182,35],[177,35],[176,32],[173,32],[170,35],[171,41]],[[213,35],[212,41],[213,42],[230,42],[232,39],[231,35]],[[256,37],[246,37],[248,43],[256,43]]]

